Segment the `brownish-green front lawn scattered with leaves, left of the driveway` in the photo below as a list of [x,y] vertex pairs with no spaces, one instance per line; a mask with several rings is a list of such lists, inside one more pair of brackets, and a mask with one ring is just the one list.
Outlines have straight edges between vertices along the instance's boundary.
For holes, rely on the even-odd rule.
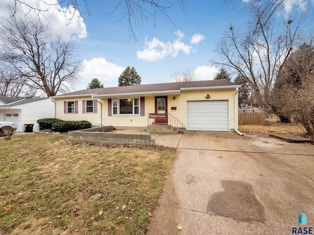
[[175,149],[0,138],[0,233],[145,234]]

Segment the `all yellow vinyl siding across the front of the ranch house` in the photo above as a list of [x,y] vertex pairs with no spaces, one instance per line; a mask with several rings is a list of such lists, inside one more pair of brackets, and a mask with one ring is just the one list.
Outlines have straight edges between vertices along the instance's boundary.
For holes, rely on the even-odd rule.
[[[230,129],[235,129],[235,89],[230,90],[202,90],[202,91],[181,91],[181,94],[168,95],[168,114],[179,119],[186,125],[186,101],[206,100],[205,95],[210,94],[210,100],[229,100]],[[158,95],[157,95],[158,96]],[[175,100],[173,97],[176,97]],[[138,97],[139,98],[139,97]],[[155,95],[145,96],[145,116],[140,115],[112,115],[108,117],[108,99],[98,98],[97,113],[82,113],[82,101],[91,100],[90,96],[77,98],[55,98],[55,116],[62,120],[88,120],[92,125],[100,124],[112,126],[146,127],[148,124],[148,113],[155,113]],[[78,114],[64,114],[64,101],[78,101]],[[176,110],[171,110],[176,107]],[[181,108],[181,109],[180,109]],[[102,115],[101,115],[102,112]]]

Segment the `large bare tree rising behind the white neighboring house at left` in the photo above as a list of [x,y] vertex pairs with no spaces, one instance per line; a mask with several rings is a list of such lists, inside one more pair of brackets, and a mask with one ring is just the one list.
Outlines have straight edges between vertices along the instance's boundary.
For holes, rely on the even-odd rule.
[[67,92],[83,69],[74,43],[52,39],[49,27],[30,15],[7,16],[2,22],[0,59],[5,65],[48,96]]

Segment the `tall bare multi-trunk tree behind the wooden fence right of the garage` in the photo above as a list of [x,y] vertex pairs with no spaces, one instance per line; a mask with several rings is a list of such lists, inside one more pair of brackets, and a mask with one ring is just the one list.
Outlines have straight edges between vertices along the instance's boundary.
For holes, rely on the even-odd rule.
[[292,51],[304,18],[279,19],[273,12],[274,6],[264,7],[264,3],[252,6],[252,20],[245,29],[230,26],[216,45],[219,59],[210,63],[243,76],[252,87],[252,95],[260,108],[267,111],[269,93]]

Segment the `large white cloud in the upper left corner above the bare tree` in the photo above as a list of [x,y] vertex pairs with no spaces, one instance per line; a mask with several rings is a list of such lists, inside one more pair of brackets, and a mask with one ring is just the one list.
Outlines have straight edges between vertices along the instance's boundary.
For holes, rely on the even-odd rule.
[[[0,0],[0,15],[5,15],[7,11],[6,6],[12,3],[12,0]],[[84,19],[80,17],[79,11],[74,11],[72,6],[62,8],[57,0],[50,0],[49,4],[46,4],[44,0],[27,0],[27,4],[45,11],[37,15],[36,12],[30,10],[25,4],[17,4],[16,15],[24,17],[30,14],[34,17],[40,17],[52,29],[52,37],[61,36],[64,40],[87,37]]]

